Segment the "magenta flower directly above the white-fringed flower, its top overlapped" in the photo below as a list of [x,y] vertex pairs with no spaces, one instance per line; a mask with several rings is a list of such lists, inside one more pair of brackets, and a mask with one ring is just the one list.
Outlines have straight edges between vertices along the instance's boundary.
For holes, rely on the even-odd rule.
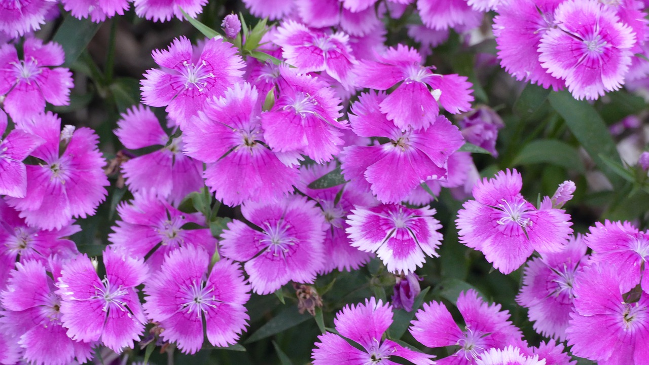
[[383,203],[400,203],[424,181],[447,178],[448,156],[463,144],[457,127],[444,116],[428,129],[402,131],[380,111],[386,94],[361,94],[349,114],[352,130],[362,137],[389,142],[345,147],[341,154],[345,179],[358,190],[374,193]]

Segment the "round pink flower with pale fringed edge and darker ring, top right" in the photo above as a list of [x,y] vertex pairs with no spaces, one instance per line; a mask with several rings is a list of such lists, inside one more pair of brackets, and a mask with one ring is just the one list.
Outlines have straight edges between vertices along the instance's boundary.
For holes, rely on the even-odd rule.
[[596,0],[569,0],[554,10],[554,20],[557,26],[543,34],[539,45],[548,73],[565,80],[577,99],[597,99],[622,87],[635,34],[615,10]]

